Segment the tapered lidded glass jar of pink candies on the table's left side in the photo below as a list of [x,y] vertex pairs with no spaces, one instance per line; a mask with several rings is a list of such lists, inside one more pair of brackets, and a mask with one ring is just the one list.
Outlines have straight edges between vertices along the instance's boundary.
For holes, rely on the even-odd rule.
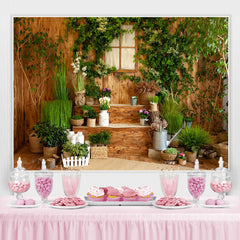
[[46,161],[44,159],[42,160],[42,170],[35,173],[35,187],[43,203],[46,203],[53,187],[53,173],[46,169]]

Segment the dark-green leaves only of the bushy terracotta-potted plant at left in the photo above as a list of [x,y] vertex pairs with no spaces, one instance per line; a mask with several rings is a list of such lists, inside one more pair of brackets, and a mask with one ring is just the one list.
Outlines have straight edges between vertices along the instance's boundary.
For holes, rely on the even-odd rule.
[[41,137],[41,143],[45,147],[61,146],[67,141],[66,129],[42,122],[36,126],[35,133]]

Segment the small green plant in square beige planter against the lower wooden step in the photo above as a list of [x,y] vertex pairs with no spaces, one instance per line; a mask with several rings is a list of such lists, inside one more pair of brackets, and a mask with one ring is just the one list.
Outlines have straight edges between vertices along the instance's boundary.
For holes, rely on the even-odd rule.
[[107,158],[107,145],[110,144],[111,133],[104,130],[89,135],[91,158]]

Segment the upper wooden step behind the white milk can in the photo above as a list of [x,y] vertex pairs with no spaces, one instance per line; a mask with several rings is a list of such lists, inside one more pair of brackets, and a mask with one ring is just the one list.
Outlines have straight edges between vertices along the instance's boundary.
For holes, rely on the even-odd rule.
[[[92,105],[92,107],[100,112],[99,105]],[[139,123],[138,111],[140,109],[147,108],[149,106],[144,105],[127,105],[127,104],[110,104],[109,112],[109,122],[110,123]],[[80,106],[73,107],[73,114],[82,114],[82,108]]]

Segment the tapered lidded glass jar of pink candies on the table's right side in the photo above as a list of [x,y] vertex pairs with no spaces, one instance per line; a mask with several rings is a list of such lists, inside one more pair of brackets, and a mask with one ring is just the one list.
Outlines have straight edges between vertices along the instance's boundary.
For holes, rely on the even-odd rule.
[[197,204],[203,194],[206,185],[206,173],[199,170],[199,161],[196,159],[194,171],[188,172],[188,191],[193,197],[193,203]]

